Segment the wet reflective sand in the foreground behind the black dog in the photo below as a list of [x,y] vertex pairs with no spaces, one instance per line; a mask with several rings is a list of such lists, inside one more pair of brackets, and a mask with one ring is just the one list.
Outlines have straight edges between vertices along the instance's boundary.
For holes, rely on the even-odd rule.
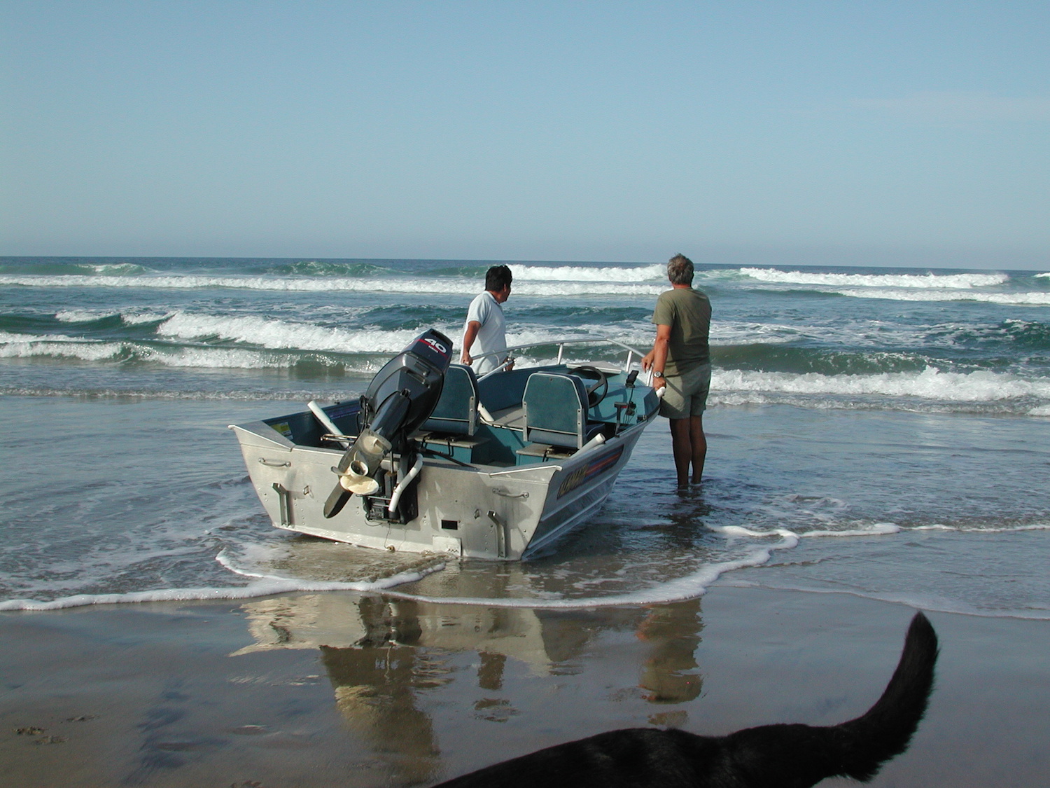
[[[301,594],[4,613],[0,765],[35,788],[371,788],[621,727],[827,725],[875,702],[911,614],[728,586],[571,611]],[[929,618],[929,712],[870,785],[1050,783],[1050,622]]]

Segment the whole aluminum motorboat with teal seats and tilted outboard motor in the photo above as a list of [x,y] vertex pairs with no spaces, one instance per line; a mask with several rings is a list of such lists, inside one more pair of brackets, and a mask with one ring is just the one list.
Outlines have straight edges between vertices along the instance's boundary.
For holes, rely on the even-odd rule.
[[[563,361],[580,346],[604,346],[603,360]],[[643,354],[626,345],[572,337],[508,352],[542,349],[549,359],[555,348],[552,364],[504,364],[479,378],[429,330],[360,399],[230,429],[279,528],[519,560],[598,511],[659,406],[638,379]]]

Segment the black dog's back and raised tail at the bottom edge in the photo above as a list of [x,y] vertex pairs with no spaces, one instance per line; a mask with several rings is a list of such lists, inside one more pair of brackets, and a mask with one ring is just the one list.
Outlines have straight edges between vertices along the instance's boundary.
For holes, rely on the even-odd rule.
[[926,712],[937,634],[921,613],[878,702],[828,727],[761,725],[726,737],[628,728],[567,742],[435,788],[806,788],[824,777],[867,782],[903,752]]

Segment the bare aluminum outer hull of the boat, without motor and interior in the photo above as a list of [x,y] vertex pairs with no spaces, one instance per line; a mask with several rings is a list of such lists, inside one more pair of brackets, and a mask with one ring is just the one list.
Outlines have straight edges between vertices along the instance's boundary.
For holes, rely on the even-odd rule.
[[601,509],[646,426],[567,458],[516,468],[427,458],[412,489],[417,514],[403,524],[370,519],[357,496],[335,517],[324,517],[338,449],[298,445],[264,421],[232,429],[259,500],[279,528],[365,547],[513,561],[552,544]]

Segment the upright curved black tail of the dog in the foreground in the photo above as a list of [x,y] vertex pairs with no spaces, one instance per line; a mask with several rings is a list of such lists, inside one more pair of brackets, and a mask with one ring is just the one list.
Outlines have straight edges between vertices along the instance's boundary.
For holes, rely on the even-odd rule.
[[830,729],[840,747],[840,773],[866,782],[884,762],[907,748],[926,713],[937,655],[937,634],[929,620],[917,613],[882,697],[863,716]]

